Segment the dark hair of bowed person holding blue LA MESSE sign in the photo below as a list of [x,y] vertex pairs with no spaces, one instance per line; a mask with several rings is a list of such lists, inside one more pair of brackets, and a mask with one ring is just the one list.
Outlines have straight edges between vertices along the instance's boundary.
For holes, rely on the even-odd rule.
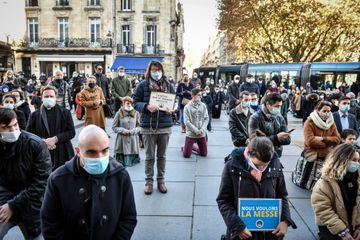
[[271,161],[275,152],[273,143],[259,130],[250,137],[247,149],[250,157],[256,157],[265,163]]

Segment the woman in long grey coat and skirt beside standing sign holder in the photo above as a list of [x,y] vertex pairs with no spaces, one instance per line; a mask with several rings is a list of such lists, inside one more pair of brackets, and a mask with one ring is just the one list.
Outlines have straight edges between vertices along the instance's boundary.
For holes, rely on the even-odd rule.
[[131,167],[140,162],[139,114],[133,108],[131,97],[123,98],[123,106],[115,114],[112,129],[117,134],[114,154],[123,166]]

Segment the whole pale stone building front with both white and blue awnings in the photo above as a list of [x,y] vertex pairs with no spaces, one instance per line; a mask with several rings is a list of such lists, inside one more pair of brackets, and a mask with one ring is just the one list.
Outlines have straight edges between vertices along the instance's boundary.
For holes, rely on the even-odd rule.
[[16,70],[53,75],[91,74],[102,64],[142,74],[151,59],[167,76],[182,72],[183,13],[177,0],[26,0],[26,38]]

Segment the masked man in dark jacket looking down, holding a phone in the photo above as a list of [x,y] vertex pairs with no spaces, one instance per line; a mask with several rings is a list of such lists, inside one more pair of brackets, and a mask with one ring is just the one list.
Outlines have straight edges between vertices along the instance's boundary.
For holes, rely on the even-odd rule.
[[281,116],[282,98],[278,93],[270,93],[264,97],[264,105],[249,120],[249,135],[260,130],[274,144],[276,153],[281,156],[282,146],[291,143],[290,133]]

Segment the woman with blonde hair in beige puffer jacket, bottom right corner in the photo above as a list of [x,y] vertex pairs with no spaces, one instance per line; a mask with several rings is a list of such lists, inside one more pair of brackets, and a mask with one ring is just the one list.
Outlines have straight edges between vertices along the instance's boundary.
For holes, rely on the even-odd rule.
[[360,156],[341,144],[326,157],[311,194],[320,236],[326,240],[360,239]]

